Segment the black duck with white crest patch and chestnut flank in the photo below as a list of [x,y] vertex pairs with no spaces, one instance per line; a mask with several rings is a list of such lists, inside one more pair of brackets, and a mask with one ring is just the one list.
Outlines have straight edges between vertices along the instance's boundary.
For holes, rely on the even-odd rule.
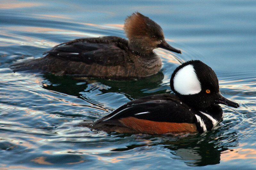
[[221,121],[219,104],[239,107],[220,94],[215,72],[199,60],[178,66],[170,86],[174,94],[136,99],[95,122],[80,125],[119,133],[202,133]]

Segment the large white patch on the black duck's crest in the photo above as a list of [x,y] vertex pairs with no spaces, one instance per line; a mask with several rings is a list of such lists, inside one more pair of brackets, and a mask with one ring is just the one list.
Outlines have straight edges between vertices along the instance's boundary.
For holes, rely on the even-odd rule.
[[195,73],[193,65],[189,64],[178,70],[173,78],[174,89],[183,95],[201,92],[201,83]]

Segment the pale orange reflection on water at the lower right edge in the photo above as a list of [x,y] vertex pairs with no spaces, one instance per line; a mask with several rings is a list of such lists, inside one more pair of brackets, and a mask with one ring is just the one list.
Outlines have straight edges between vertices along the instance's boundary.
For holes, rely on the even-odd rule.
[[[230,161],[233,159],[255,159],[256,160],[256,150],[249,148],[235,148],[231,152],[221,153],[220,160]],[[255,162],[256,164],[256,162]]]

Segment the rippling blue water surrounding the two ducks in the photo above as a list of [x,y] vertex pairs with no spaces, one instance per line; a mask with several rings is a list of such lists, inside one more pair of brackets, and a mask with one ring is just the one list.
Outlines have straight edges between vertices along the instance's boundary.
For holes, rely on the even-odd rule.
[[[1,169],[256,169],[255,1],[0,2]],[[153,77],[80,81],[9,68],[75,38],[125,38],[122,24],[134,11],[156,21],[183,52],[155,50],[163,67]],[[130,100],[171,92],[178,61],[191,59],[215,70],[221,93],[240,104],[222,106],[223,121],[212,131],[173,137],[75,126]]]

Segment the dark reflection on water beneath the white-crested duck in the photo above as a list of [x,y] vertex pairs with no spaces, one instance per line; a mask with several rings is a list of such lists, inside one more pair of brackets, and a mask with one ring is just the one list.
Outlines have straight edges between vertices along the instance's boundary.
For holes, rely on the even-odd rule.
[[[226,134],[226,130],[220,128],[205,134],[196,134],[187,137],[153,136],[152,138],[152,136],[146,136],[144,139],[151,142],[147,142],[147,144],[131,144],[125,148],[113,149],[112,151],[123,152],[145,145],[162,145],[161,148],[164,151],[169,149],[169,152],[176,156],[174,159],[180,159],[188,166],[215,165],[220,163],[222,152],[229,150],[228,148],[230,147],[238,146],[236,132]],[[122,137],[123,135],[118,136]]]

